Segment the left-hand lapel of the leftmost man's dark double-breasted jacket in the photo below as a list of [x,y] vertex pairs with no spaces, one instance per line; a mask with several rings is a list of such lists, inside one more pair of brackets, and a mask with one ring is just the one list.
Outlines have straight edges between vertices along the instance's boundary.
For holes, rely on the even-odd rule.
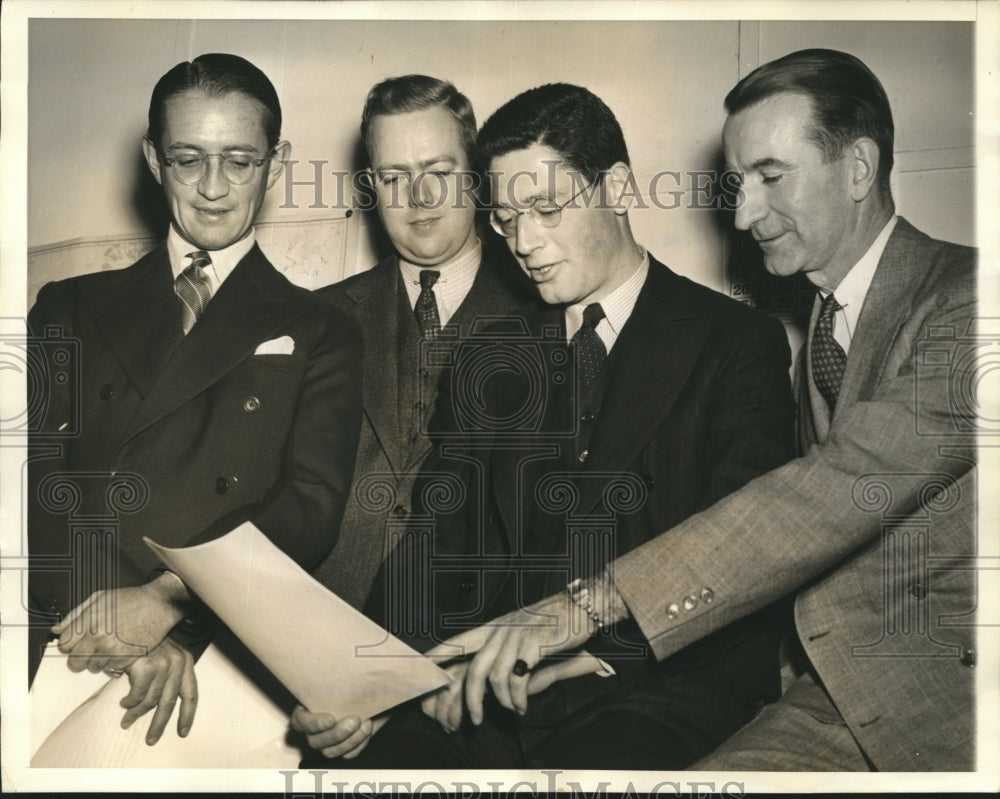
[[183,340],[166,244],[113,273],[99,290],[86,280],[80,288],[129,380],[146,397]]

